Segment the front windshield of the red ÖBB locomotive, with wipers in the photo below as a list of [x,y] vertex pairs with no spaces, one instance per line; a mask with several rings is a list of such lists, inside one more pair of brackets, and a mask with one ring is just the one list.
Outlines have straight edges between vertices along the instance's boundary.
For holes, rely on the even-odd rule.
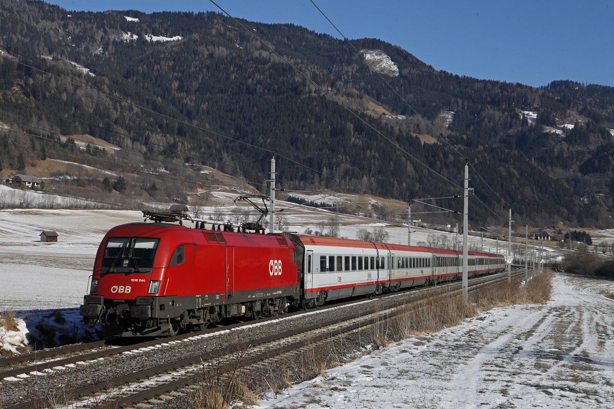
[[150,272],[160,239],[111,237],[104,248],[102,267],[109,272]]

